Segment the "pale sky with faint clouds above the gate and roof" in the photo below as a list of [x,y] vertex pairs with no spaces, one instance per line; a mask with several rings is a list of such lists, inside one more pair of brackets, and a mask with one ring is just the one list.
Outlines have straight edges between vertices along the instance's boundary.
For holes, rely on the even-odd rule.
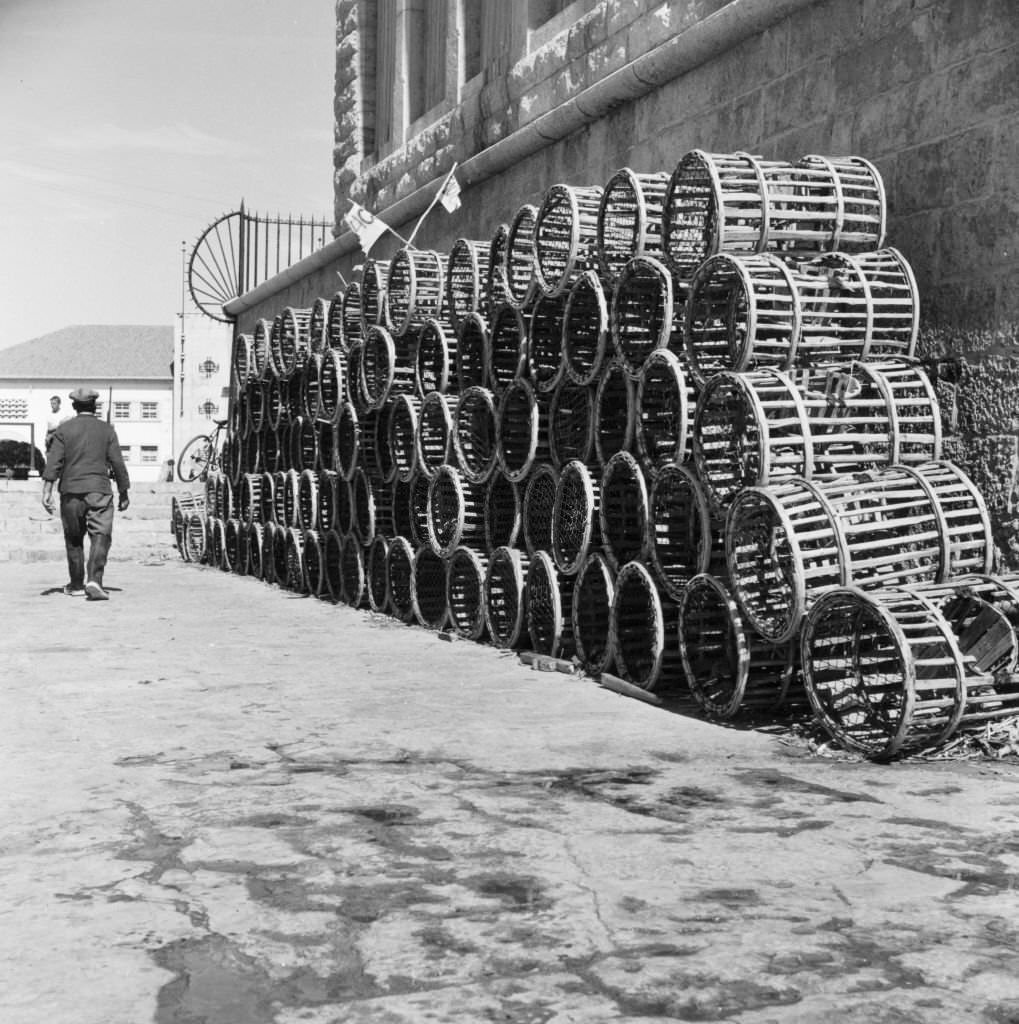
[[175,323],[181,243],[242,198],[331,218],[335,18],[334,0],[0,0],[0,348]]

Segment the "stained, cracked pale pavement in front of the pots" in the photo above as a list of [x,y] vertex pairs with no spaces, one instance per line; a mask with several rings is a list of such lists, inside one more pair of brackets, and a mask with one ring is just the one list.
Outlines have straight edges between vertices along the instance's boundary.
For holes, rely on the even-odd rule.
[[0,1021],[1019,1021],[1010,763],[812,756],[180,562],[0,577]]

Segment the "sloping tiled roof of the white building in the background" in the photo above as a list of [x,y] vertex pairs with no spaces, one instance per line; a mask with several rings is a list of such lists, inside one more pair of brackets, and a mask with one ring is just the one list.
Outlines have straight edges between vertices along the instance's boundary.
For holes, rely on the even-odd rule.
[[84,324],[0,348],[0,380],[170,380],[173,328]]

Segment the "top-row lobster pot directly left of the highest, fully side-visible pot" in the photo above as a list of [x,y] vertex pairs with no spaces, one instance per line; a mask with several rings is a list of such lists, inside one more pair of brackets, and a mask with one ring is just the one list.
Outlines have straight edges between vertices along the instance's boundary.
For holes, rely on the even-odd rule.
[[634,256],[662,255],[662,211],[669,175],[617,171],[605,185],[598,208],[598,265],[606,284],[614,285]]

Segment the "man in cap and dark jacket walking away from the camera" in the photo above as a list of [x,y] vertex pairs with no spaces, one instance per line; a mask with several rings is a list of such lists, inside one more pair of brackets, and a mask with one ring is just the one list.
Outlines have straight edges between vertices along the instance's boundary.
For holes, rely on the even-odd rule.
[[[99,392],[91,388],[76,388],[71,392],[75,411],[72,419],[61,423],[53,434],[43,470],[42,504],[53,513],[53,484],[60,481],[60,522],[63,544],[68,551],[71,582],[63,593],[71,596],[86,594],[92,601],[109,600],[102,589],[102,571],[110,554],[114,530],[114,495],[110,474],[117,480],[123,512],[130,504],[131,481],[120,452],[117,431],[95,417]],[[85,566],[85,534],[89,537],[88,572]]]

